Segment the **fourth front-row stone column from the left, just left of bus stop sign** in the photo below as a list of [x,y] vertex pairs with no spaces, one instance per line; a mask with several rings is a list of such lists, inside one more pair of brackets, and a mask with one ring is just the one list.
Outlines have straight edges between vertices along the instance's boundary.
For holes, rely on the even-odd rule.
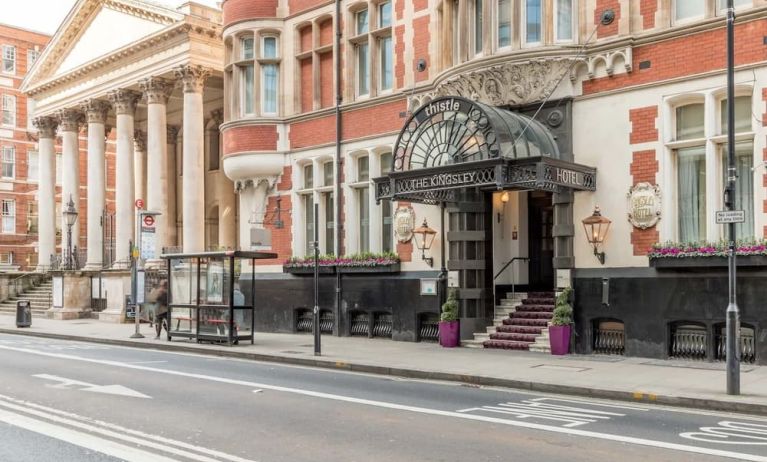
[[117,167],[115,178],[115,267],[127,268],[129,243],[134,238],[133,197],[133,116],[141,95],[130,90],[109,92],[109,101],[117,115]]

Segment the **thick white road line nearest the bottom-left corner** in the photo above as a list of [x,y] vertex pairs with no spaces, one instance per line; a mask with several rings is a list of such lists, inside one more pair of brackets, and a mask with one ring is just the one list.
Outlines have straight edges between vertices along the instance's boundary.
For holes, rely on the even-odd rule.
[[128,462],[145,462],[147,460],[173,462],[174,460],[4,409],[0,409],[0,421]]

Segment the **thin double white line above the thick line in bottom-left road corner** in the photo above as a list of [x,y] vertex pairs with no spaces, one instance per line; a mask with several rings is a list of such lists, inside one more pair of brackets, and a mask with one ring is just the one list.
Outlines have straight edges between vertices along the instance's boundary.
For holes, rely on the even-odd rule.
[[[138,430],[121,427],[113,423],[90,419],[88,417],[79,416],[77,414],[70,413],[70,412],[60,411],[58,409],[49,408],[49,407],[42,406],[29,401],[17,400],[9,396],[0,395],[0,408],[6,408],[13,411],[17,411],[18,413],[32,415],[35,417],[39,417],[41,419],[45,419],[45,421],[56,422],[62,425],[66,425],[68,427],[75,427],[80,430],[85,430],[91,433],[98,433],[98,434],[107,436],[109,438],[118,439],[127,443],[131,443],[133,445],[152,448],[154,450],[166,452],[169,454],[173,454],[175,456],[185,457],[198,462],[220,462],[221,459],[231,461],[231,462],[254,462],[250,459],[243,459],[241,457],[234,456],[231,454],[226,454],[213,449],[208,449],[201,446],[194,446],[192,444],[184,443],[183,441],[175,441],[167,437],[160,437],[153,434],[143,433]],[[0,409],[0,415],[2,415],[1,413],[5,413],[5,412],[10,413],[10,411],[5,411],[3,409]],[[14,415],[16,414],[14,413]],[[31,420],[33,422],[39,422],[38,420],[32,419],[30,417],[24,417],[24,416],[21,416],[21,417]],[[65,427],[60,427],[58,425],[53,425],[45,421],[40,421],[40,422],[43,422],[46,425],[61,428],[62,430],[65,430],[65,431],[80,433],[76,430],[71,430]],[[8,423],[11,423],[11,422],[8,422]],[[43,434],[47,434],[47,433],[43,433]],[[83,433],[83,435],[93,438],[97,441],[111,443],[111,441],[109,440],[104,440],[94,435],[88,435],[85,433]],[[71,440],[66,440],[66,441],[70,441],[73,444],[76,444],[78,446],[83,446],[78,441],[71,441]],[[114,443],[114,444],[117,444],[117,443]],[[90,447],[90,446],[83,446],[83,447]],[[100,451],[97,448],[93,448],[93,449]],[[103,451],[100,451],[100,452],[103,452]],[[173,460],[173,459],[166,459],[164,457],[156,457],[154,455],[155,454],[154,452],[151,454],[149,453],[143,453],[143,454],[144,454],[142,456],[143,458],[129,459],[129,460],[137,460],[137,461],[151,460],[153,462],[155,460],[158,460],[158,461]],[[149,457],[147,457],[147,454],[149,454]]]

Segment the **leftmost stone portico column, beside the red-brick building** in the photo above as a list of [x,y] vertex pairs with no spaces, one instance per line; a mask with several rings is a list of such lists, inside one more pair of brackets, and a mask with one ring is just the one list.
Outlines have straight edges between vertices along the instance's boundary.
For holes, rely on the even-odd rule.
[[37,189],[37,271],[51,265],[56,253],[56,128],[53,117],[38,117],[32,121],[40,136],[38,147],[39,180]]

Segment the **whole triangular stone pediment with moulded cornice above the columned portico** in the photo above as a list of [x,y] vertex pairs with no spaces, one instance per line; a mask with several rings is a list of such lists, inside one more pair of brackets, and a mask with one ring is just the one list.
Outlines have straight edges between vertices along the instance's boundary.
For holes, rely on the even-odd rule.
[[142,0],[77,0],[22,89],[70,73],[183,20],[178,11]]

